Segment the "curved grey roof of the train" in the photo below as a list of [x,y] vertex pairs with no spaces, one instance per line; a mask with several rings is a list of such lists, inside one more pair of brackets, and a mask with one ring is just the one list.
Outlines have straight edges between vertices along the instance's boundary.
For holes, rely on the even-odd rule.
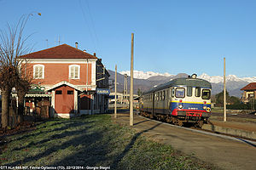
[[169,88],[171,86],[191,86],[191,87],[201,87],[201,88],[212,88],[211,82],[203,80],[201,78],[176,78],[170,82],[166,82],[163,84],[158,85],[157,87],[150,88],[147,92],[143,94],[150,94],[154,91],[158,91],[164,88]]

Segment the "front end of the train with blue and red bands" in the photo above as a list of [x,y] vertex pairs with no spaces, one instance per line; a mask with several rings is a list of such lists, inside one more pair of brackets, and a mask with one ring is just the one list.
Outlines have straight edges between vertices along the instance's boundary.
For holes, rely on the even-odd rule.
[[195,123],[201,127],[211,115],[212,85],[196,77],[178,79],[172,87],[170,105],[172,122],[182,125]]

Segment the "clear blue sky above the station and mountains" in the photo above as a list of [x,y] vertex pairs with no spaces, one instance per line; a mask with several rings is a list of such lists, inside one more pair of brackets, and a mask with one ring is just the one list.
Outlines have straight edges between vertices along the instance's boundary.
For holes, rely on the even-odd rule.
[[[108,70],[256,77],[254,0],[0,0],[0,29],[27,17],[32,51],[66,43]],[[37,13],[41,13],[39,16]],[[60,40],[60,41],[59,41]]]

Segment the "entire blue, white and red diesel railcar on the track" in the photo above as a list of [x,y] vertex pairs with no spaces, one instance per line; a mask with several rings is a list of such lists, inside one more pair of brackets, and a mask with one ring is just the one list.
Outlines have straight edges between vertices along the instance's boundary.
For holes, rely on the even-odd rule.
[[143,93],[140,114],[178,126],[202,127],[211,114],[212,85],[196,75],[173,79]]

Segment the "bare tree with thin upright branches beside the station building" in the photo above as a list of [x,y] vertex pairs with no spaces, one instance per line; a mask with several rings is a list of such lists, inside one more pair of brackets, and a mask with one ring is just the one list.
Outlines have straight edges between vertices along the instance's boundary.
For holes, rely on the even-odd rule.
[[[12,88],[19,90],[18,96],[24,99],[28,91],[30,81],[21,65],[20,55],[27,54],[32,48],[26,46],[27,39],[23,37],[26,21],[32,14],[21,16],[15,26],[7,24],[7,30],[0,31],[0,88],[2,91],[2,127],[9,126],[9,99]],[[41,15],[41,14],[39,14]],[[23,96],[23,98],[22,98]],[[21,100],[19,99],[19,106]],[[23,107],[23,102],[22,106]],[[23,113],[23,111],[21,111]]]

